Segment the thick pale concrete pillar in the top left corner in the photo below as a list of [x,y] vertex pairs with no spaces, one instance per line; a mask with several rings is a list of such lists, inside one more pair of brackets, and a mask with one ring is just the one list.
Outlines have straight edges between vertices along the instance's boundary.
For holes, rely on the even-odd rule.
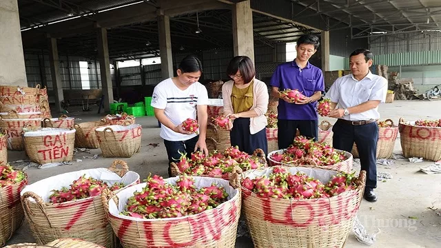
[[28,87],[17,0],[0,1],[0,85]]

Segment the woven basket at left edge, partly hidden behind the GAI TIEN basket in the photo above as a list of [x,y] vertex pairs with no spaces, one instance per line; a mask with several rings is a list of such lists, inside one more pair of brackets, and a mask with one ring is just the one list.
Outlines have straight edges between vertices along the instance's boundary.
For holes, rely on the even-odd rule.
[[41,127],[40,118],[32,119],[1,119],[0,118],[0,128],[1,130],[6,130],[8,134],[7,147],[9,150],[13,151],[23,151],[25,145],[23,143],[23,137],[21,133],[24,127]]

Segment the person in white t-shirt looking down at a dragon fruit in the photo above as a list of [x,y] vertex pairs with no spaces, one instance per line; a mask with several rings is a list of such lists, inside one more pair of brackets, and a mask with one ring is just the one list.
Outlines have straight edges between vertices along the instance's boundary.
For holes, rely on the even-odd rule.
[[[160,136],[167,149],[169,176],[172,176],[170,163],[177,162],[180,153],[187,153],[190,158],[192,152],[200,149],[208,155],[205,143],[208,94],[205,86],[198,82],[202,72],[201,61],[189,55],[179,64],[178,76],[165,79],[154,88],[151,105],[154,116],[162,124]],[[199,134],[183,130],[183,121],[196,119],[196,113]]]

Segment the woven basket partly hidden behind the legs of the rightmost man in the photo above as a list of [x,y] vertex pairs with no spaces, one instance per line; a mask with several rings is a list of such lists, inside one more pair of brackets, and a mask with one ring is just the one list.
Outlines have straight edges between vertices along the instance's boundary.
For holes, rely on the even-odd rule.
[[[378,127],[378,143],[377,143],[377,158],[391,158],[393,154],[393,147],[398,136],[398,126],[393,124],[391,119],[387,119],[392,127]],[[359,158],[357,145],[354,143],[351,154],[353,158]]]

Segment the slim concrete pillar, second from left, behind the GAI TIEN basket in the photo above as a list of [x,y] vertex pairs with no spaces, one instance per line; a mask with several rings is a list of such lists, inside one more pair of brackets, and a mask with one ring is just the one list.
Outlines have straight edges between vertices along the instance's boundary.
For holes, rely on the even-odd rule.
[[55,111],[61,113],[61,101],[63,101],[63,82],[61,81],[60,74],[60,61],[58,57],[57,39],[48,38],[49,47],[49,63],[50,74],[52,75],[52,87],[54,87],[55,93]]

